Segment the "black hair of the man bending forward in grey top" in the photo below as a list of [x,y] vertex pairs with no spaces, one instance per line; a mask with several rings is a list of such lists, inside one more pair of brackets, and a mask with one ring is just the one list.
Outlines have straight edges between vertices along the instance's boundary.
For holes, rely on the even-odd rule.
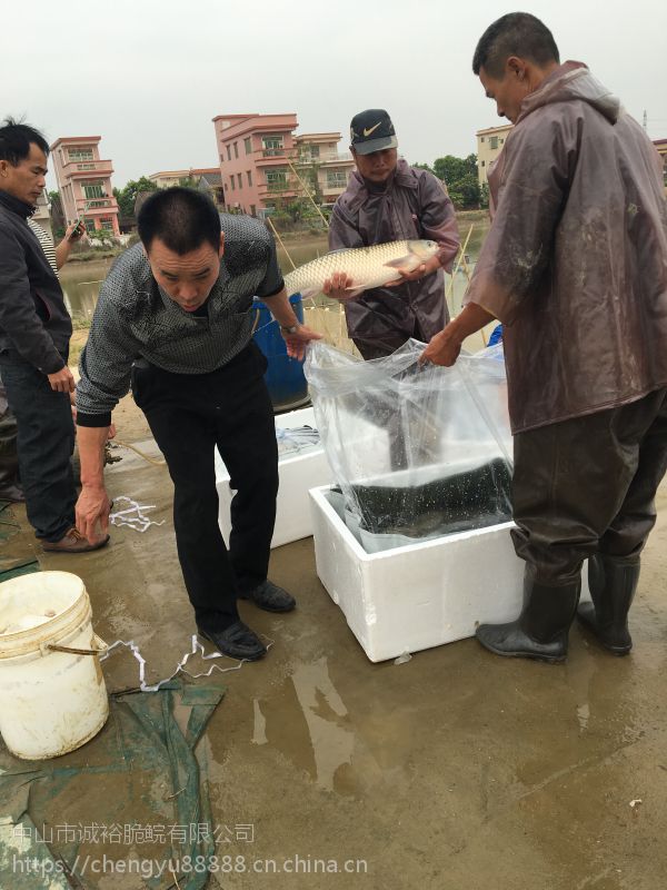
[[220,215],[206,195],[190,188],[159,189],[146,200],[137,218],[141,243],[147,250],[155,238],[182,256],[202,244],[220,247]]

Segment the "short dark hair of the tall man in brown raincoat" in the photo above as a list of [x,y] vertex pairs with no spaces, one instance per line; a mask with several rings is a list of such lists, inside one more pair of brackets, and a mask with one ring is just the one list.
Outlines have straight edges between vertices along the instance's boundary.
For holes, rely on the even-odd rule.
[[501,79],[510,56],[529,59],[540,67],[560,62],[554,34],[529,12],[509,12],[489,24],[475,50],[472,71],[478,75],[484,68],[492,78]]

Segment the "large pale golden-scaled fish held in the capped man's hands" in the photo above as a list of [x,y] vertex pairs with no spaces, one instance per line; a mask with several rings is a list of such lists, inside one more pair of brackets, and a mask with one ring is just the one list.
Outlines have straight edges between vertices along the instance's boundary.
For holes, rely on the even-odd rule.
[[345,273],[352,279],[351,287],[347,289],[350,296],[356,296],[362,290],[398,280],[399,268],[414,271],[438,249],[436,241],[412,240],[334,250],[286,275],[287,296],[301,294],[302,297],[311,297],[320,294],[325,281],[334,273]]

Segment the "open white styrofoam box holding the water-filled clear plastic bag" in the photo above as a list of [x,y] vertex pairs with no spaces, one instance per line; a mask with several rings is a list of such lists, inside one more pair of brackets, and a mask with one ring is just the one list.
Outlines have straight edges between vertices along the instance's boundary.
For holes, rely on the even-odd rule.
[[521,611],[512,523],[366,553],[328,494],[310,492],[317,574],[370,661],[472,636],[477,623]]

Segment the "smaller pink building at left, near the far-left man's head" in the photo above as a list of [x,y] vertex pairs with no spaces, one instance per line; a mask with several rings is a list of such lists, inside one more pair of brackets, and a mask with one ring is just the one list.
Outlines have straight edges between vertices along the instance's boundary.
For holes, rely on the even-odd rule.
[[51,158],[64,217],[69,222],[83,219],[89,233],[120,235],[118,202],[111,188],[113,167],[102,160],[100,136],[68,136],[51,146]]

